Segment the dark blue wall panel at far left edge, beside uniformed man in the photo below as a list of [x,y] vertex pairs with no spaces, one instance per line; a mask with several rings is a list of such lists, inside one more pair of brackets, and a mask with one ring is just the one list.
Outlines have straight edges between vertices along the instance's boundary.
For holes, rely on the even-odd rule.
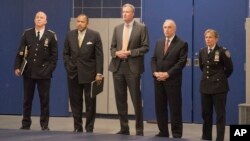
[[23,26],[23,1],[0,4],[0,114],[21,114],[22,81],[14,75],[14,58]]

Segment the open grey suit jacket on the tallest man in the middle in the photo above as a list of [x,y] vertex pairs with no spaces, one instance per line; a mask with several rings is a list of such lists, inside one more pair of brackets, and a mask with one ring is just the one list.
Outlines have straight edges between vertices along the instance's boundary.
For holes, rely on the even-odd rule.
[[[115,52],[122,49],[122,33],[124,23],[115,27],[111,42],[112,60],[109,65],[111,72],[116,72],[119,68],[121,59],[116,57]],[[128,50],[131,55],[128,57],[130,70],[134,73],[141,74],[144,72],[144,54],[149,50],[149,37],[145,25],[134,22],[132,32],[129,38]]]

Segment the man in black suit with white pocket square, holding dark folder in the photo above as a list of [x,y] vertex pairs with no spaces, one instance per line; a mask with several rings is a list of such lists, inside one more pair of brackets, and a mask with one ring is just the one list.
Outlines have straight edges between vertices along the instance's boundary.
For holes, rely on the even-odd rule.
[[87,132],[93,132],[96,116],[96,98],[90,97],[91,82],[102,81],[103,49],[98,32],[87,28],[89,19],[85,14],[76,18],[77,29],[70,31],[65,39],[63,59],[68,74],[70,106],[74,118],[74,131],[83,132],[83,91],[86,105]]

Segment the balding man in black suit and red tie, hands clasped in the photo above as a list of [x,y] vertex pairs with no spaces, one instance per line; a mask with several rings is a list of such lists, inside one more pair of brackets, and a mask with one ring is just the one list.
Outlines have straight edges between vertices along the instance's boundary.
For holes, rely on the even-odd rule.
[[174,138],[182,137],[182,69],[188,53],[187,42],[176,33],[176,24],[167,19],[163,24],[165,37],[157,41],[151,67],[155,84],[155,108],[159,137],[169,137],[168,106]]

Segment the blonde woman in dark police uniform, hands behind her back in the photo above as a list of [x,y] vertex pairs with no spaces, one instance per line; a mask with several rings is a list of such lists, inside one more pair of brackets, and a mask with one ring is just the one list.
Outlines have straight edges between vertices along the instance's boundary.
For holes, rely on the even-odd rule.
[[228,78],[233,72],[229,51],[220,47],[218,33],[213,29],[205,31],[205,48],[199,53],[202,71],[200,82],[203,118],[202,140],[212,140],[213,107],[216,113],[217,138],[223,141],[226,122],[226,98],[229,91]]

